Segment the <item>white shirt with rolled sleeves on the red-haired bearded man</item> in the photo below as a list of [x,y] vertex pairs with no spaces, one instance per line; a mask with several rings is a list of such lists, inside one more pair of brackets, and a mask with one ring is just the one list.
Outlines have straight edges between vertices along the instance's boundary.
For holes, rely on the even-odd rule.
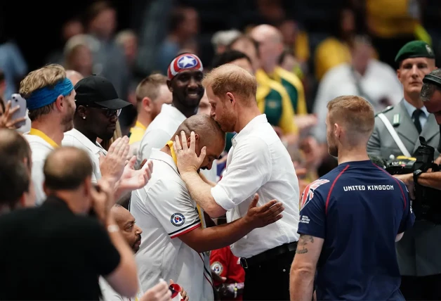
[[216,203],[228,210],[227,221],[244,217],[254,193],[258,206],[272,199],[284,205],[283,217],[254,229],[231,245],[237,257],[249,258],[284,243],[298,241],[298,179],[287,148],[266,115],[258,115],[232,139],[227,167],[221,181],[211,188]]

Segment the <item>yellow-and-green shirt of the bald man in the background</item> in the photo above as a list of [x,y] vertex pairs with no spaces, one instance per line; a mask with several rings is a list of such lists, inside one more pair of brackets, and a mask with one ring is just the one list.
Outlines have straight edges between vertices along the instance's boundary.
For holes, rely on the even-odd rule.
[[288,92],[291,91],[291,93],[289,93],[289,96],[291,98],[291,103],[294,108],[294,114],[308,114],[308,110],[306,109],[305,89],[303,89],[303,83],[296,75],[294,75],[294,73],[277,66],[271,78],[279,84],[282,84],[282,86],[285,87]]

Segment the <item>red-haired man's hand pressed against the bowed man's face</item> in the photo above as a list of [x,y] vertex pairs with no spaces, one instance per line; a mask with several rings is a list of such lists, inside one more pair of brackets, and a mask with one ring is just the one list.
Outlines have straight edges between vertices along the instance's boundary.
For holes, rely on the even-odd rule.
[[201,155],[199,157],[196,155],[196,136],[195,132],[190,134],[190,147],[187,145],[187,136],[185,132],[180,132],[180,139],[183,141],[181,144],[179,141],[179,136],[175,136],[175,141],[173,142],[173,151],[176,154],[176,160],[178,165],[178,170],[180,174],[185,174],[186,172],[197,172],[197,169],[201,167],[202,162],[205,158],[206,147],[204,146],[201,150]]

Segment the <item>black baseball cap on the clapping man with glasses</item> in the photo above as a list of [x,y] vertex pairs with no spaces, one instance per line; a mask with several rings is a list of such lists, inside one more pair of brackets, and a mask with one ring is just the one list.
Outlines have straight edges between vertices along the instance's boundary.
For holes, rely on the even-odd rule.
[[118,110],[131,105],[128,101],[123,101],[118,97],[117,91],[109,79],[91,75],[81,79],[74,87],[77,96],[77,105],[99,105],[103,108]]

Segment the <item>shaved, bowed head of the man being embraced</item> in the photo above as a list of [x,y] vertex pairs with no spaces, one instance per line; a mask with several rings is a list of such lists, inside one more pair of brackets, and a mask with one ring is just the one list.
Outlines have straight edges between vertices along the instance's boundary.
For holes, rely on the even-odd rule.
[[208,115],[193,115],[180,124],[171,140],[174,141],[177,135],[180,143],[182,143],[182,131],[185,132],[189,147],[191,132],[195,132],[196,154],[198,156],[201,155],[202,148],[206,147],[206,155],[200,168],[211,169],[213,161],[218,159],[225,149],[225,132],[223,132],[216,120]]

